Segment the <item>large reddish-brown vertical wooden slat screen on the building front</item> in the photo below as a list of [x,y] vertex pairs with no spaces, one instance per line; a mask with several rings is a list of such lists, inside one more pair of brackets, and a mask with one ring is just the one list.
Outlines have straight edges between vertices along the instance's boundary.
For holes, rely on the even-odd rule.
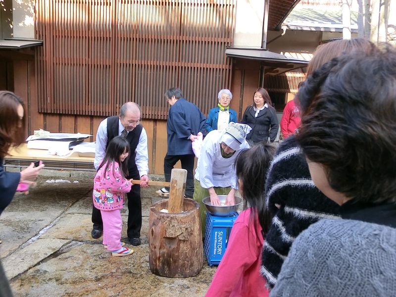
[[166,119],[166,89],[203,113],[231,85],[236,0],[37,0],[39,111],[106,116],[132,100]]

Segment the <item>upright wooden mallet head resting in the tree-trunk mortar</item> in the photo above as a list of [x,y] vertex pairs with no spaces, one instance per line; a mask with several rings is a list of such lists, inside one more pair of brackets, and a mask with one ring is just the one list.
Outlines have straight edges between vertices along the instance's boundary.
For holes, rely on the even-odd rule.
[[183,209],[184,192],[186,190],[187,170],[172,169],[170,176],[169,213],[180,213]]

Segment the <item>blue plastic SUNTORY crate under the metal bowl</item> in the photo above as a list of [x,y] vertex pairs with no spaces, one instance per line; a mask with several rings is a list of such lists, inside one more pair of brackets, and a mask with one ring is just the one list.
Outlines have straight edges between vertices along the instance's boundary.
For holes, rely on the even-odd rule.
[[206,212],[205,242],[203,249],[207,263],[210,266],[219,265],[226,251],[231,229],[237,216],[238,214],[236,213],[229,217],[218,217]]

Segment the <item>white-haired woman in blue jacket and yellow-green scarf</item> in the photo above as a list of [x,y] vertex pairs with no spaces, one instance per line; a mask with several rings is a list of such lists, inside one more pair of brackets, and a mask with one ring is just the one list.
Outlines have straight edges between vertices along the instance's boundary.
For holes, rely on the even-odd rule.
[[216,107],[209,110],[209,114],[206,119],[206,132],[209,133],[212,130],[224,130],[228,123],[237,122],[237,112],[230,108],[230,102],[232,99],[232,93],[230,90],[220,90],[217,95],[219,103]]

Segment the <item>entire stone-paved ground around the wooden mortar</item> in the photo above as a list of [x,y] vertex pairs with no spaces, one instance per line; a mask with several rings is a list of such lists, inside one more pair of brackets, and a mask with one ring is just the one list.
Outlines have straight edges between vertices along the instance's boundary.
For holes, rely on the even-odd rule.
[[[142,245],[133,255],[112,257],[101,239],[91,237],[92,173],[46,174],[28,196],[16,194],[0,217],[0,257],[15,296],[205,295],[216,269],[206,262],[191,278],[160,277],[148,268],[148,211],[161,199],[155,196],[159,187],[142,190]],[[121,213],[126,238],[127,207]]]

